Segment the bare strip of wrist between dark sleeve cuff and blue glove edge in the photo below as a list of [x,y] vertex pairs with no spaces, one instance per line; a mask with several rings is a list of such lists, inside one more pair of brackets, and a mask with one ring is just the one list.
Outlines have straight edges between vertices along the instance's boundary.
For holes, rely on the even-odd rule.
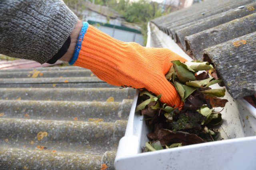
[[82,27],[83,27],[82,21],[77,20],[76,25],[70,34],[70,38],[71,38],[70,46],[68,48],[68,51],[60,58],[61,61],[69,62],[72,59],[75,49],[76,49],[76,44],[78,41],[80,31],[82,30]]

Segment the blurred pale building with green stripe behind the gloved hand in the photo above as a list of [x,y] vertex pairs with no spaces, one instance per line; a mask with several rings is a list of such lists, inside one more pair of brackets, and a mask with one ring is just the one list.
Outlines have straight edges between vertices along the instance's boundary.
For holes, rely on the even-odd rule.
[[126,22],[124,17],[115,10],[106,6],[93,4],[88,0],[85,1],[84,6],[85,9],[82,11],[74,10],[83,21],[87,21],[100,31],[120,41],[133,41],[140,45],[144,45],[141,27]]

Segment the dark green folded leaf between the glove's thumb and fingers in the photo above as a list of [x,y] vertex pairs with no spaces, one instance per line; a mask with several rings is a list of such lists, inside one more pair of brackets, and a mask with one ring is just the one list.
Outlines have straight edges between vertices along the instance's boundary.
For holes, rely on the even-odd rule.
[[179,60],[172,61],[175,71],[177,73],[178,79],[181,83],[186,83],[190,80],[196,80],[195,71],[186,66],[186,64],[181,63]]

